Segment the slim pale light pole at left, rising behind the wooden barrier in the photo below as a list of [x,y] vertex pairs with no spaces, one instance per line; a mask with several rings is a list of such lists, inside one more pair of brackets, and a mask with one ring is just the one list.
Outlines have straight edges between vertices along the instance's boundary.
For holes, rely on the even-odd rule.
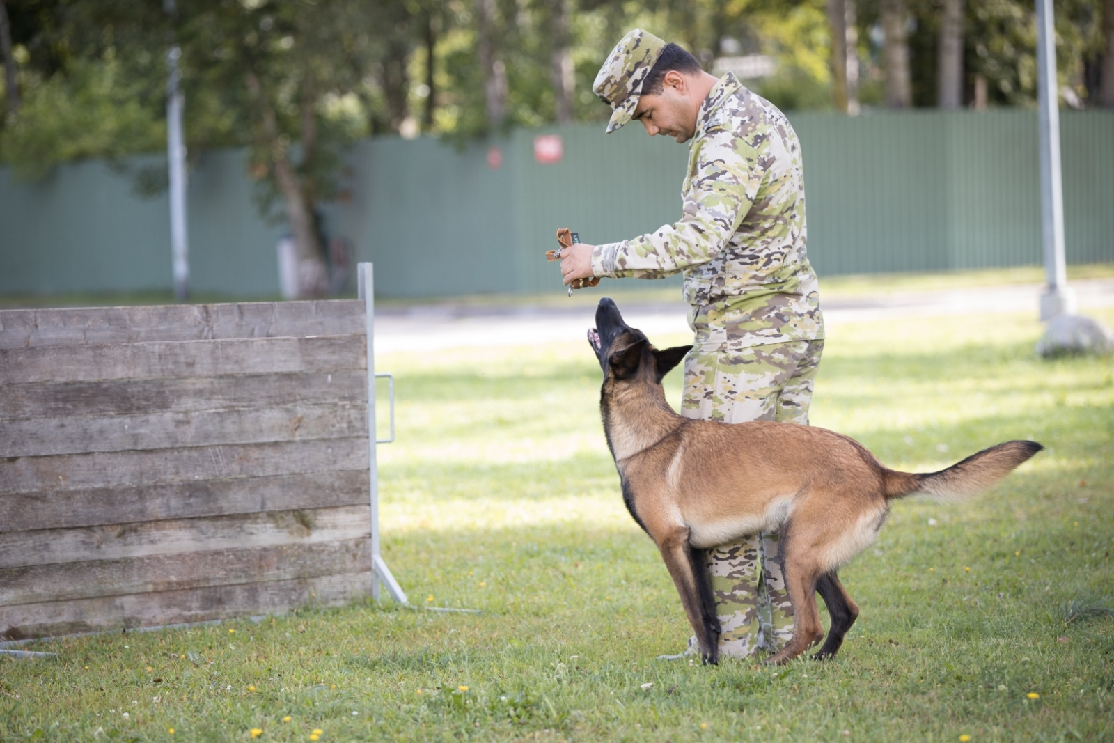
[[[174,14],[174,0],[163,0],[163,9]],[[174,266],[174,299],[185,302],[189,294],[189,242],[186,237],[186,144],[182,131],[185,95],[178,89],[182,49],[170,45],[166,52],[166,156],[170,176],[170,254]]]

